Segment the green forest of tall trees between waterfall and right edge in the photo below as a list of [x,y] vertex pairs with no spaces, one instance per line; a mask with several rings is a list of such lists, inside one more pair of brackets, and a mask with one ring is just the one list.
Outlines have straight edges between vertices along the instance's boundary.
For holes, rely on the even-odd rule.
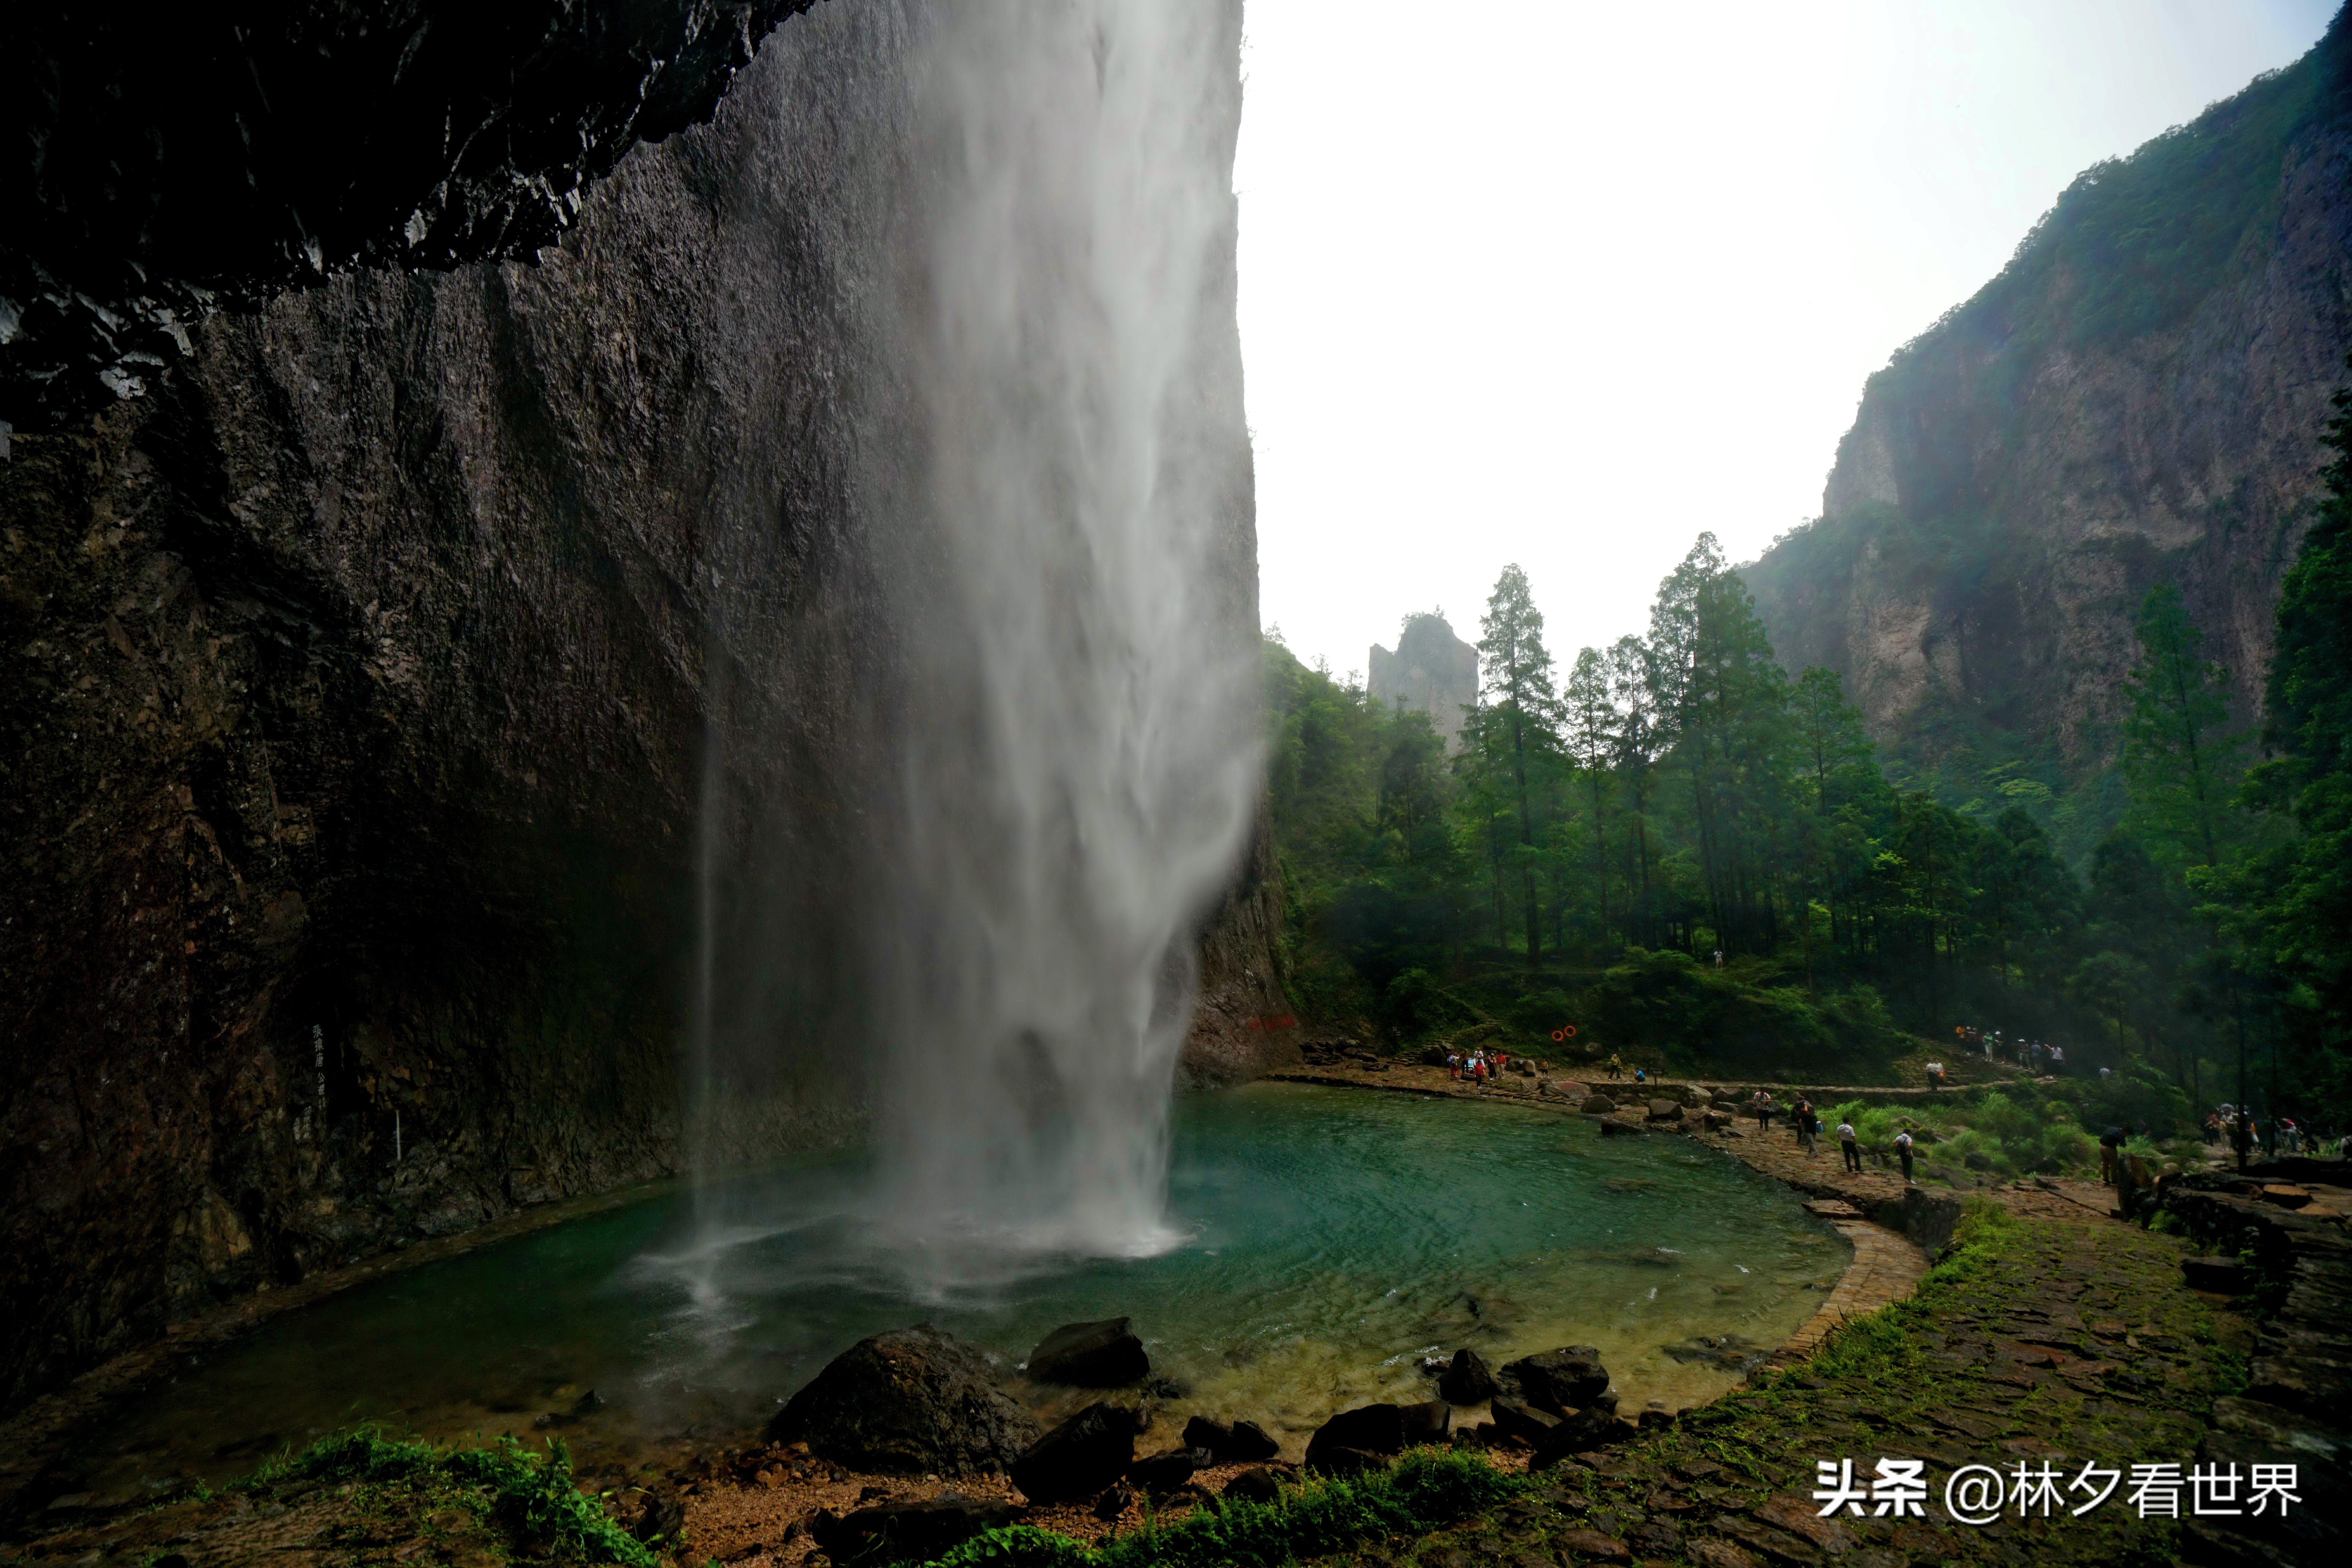
[[1564,661],[1505,569],[1451,759],[1425,715],[1270,639],[1294,994],[1392,1048],[1491,1037],[1726,1077],[1884,1081],[1971,1025],[2169,1081],[2178,1107],[2340,1114],[2352,461],[2343,416],[2324,435],[2274,729],[2234,717],[2230,668],[2157,583],[2131,623],[2119,823],[2082,870],[2032,809],[2046,790],[1985,811],[1891,769],[1835,670],[1785,672],[1712,536],[1646,637]]

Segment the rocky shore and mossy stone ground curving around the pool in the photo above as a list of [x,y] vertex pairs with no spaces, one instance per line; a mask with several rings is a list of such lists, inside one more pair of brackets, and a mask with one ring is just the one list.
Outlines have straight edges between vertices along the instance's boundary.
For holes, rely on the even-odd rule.
[[[1324,1067],[1287,1077],[1588,1114],[1583,1100],[1571,1105],[1557,1093],[1456,1088],[1399,1070]],[[1729,1119],[1710,1126],[1715,1119],[1689,1114],[1679,1098],[1684,1114],[1672,1117],[1665,1086],[1649,1088],[1661,1105],[1597,1114],[1604,1135],[1689,1135],[1719,1147],[1809,1194],[1809,1208],[1856,1244],[1823,1309],[1764,1356],[1750,1387],[1710,1406],[1625,1420],[1597,1361],[1578,1368],[1583,1382],[1531,1378],[1531,1363],[1578,1363],[1576,1349],[1505,1368],[1468,1354],[1430,1368],[1432,1401],[1343,1410],[1315,1434],[1303,1462],[1284,1462],[1265,1434],[1251,1441],[1247,1422],[1155,1427],[1148,1359],[1120,1319],[1068,1326],[1033,1352],[1028,1373],[1065,1378],[1070,1399],[1084,1401],[1075,1410],[1065,1401],[1049,1415],[1051,1429],[1035,1406],[988,1399],[1011,1368],[981,1366],[985,1356],[971,1347],[938,1347],[936,1331],[903,1331],[877,1338],[898,1340],[896,1349],[866,1342],[844,1354],[835,1366],[863,1359],[866,1373],[833,1378],[828,1368],[753,1443],[682,1441],[628,1474],[588,1474],[581,1488],[604,1495],[640,1540],[684,1540],[694,1561],[804,1568],[856,1556],[882,1537],[934,1554],[953,1537],[1011,1521],[1103,1542],[1218,1507],[1211,1497],[1289,1497],[1310,1474],[1381,1474],[1390,1455],[1437,1441],[1524,1476],[1517,1495],[1423,1540],[1390,1537],[1338,1559],[1303,1561],[1367,1568],[1406,1561],[1893,1568],[2129,1556],[2279,1563],[2326,1561],[2340,1547],[2343,1436],[2333,1425],[2340,1403],[2328,1401],[2340,1401],[2352,1366],[2343,1340],[2352,1248],[2324,1201],[2331,1197],[2324,1178],[2336,1171],[2267,1173],[2300,1178],[2305,1187],[2227,1175],[2166,1182],[2164,1213],[2173,1215],[2166,1227],[2197,1234],[2209,1253],[2244,1244],[2258,1262],[2192,1258],[2178,1237],[2124,1222],[2103,1187],[2058,1180],[1985,1187],[1973,1194],[1980,1199],[1973,1213],[1999,1220],[1987,1232],[1990,1220],[1962,1222],[1955,1194],[1905,1187],[1884,1171],[1846,1173],[1835,1154],[1806,1154],[1790,1135],[1757,1135]],[[2319,1194],[2307,1201],[2312,1213],[2284,1206],[2293,1192]],[[2129,1201],[2145,1208],[2157,1194]],[[1955,1229],[1964,1244],[1952,1241]],[[1945,1258],[1933,1272],[1931,1253]],[[2241,1312],[2249,1298],[2267,1326]],[[1893,1312],[1872,1319],[1860,1338],[1835,1333],[1891,1302]],[[983,1434],[985,1453],[903,1443],[891,1453],[887,1441],[873,1441],[875,1413],[891,1389],[922,1385],[910,1368],[934,1359],[938,1378],[924,1385],[936,1396],[934,1436],[971,1448],[974,1434]],[[906,1422],[880,1427],[906,1436]],[[1940,1486],[1964,1465],[2187,1467],[2206,1458],[2251,1465],[2279,1453],[2303,1460],[2310,1497],[2284,1526],[2178,1523],[2122,1507],[2089,1521],[2037,1516],[1983,1528],[1943,1519],[1823,1521],[1809,1502],[1813,1465],[1842,1455],[1863,1469],[1882,1455],[1915,1458]],[[198,1519],[205,1509],[219,1516]],[[223,1509],[214,1500],[89,1519],[31,1542],[26,1556],[85,1556],[92,1547],[103,1552],[108,1540],[120,1552],[179,1537],[183,1547],[219,1544],[212,1554],[186,1552],[193,1568],[240,1561],[233,1542],[249,1540],[256,1526]],[[165,1526],[174,1533],[155,1535]]]

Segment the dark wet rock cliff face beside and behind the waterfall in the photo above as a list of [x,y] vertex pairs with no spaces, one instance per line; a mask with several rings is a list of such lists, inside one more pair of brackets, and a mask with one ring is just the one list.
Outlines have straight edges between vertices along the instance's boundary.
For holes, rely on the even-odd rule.
[[[221,313],[143,397],[19,430],[0,1396],[689,1147],[856,1135],[854,846],[901,672],[849,465],[887,440],[858,346],[922,26],[818,7],[534,263]],[[1251,646],[1230,275],[1223,322]],[[715,837],[713,799],[746,802]],[[1270,900],[1244,872],[1209,917],[1195,1079],[1275,1051]],[[757,1048],[687,1128],[701,952],[739,999],[703,1023]]]

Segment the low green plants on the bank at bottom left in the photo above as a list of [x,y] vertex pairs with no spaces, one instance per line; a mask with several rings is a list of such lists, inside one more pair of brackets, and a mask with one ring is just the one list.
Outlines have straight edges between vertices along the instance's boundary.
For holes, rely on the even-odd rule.
[[572,1486],[572,1453],[548,1439],[534,1455],[510,1436],[489,1448],[442,1448],[372,1429],[325,1436],[301,1453],[282,1453],[228,1490],[259,1490],[287,1481],[416,1481],[456,1488],[466,1502],[508,1530],[543,1542],[557,1556],[590,1563],[656,1568],[652,1549],[614,1523],[595,1497]]

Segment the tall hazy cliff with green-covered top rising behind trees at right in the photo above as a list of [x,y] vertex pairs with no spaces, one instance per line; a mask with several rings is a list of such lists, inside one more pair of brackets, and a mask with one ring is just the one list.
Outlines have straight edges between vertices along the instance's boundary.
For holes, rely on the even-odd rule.
[[1962,792],[2002,762],[2082,785],[2166,578],[2258,705],[2352,348],[2347,82],[2338,19],[2291,73],[2086,174],[1870,381],[1820,522],[1748,583],[1783,663],[1844,672],[1898,757]]

